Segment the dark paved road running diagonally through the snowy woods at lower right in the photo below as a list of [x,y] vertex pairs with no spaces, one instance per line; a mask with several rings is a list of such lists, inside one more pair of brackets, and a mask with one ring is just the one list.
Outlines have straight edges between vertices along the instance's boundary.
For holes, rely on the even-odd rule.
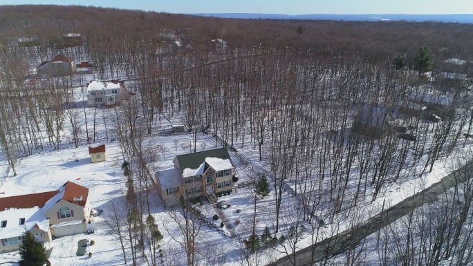
[[[296,252],[296,265],[310,265],[310,256],[313,256],[313,263],[322,261],[324,257],[331,257],[344,253],[344,251],[356,247],[363,238],[375,233],[382,227],[389,225],[391,222],[407,215],[412,209],[420,207],[421,205],[436,201],[437,196],[445,193],[446,190],[451,189],[455,184],[465,182],[465,176],[471,178],[472,175],[458,174],[465,172],[472,172],[473,162],[468,162],[464,167],[458,169],[449,175],[446,175],[439,182],[432,184],[431,187],[416,193],[414,196],[406,198],[397,205],[384,210],[377,216],[373,216],[368,220],[362,222],[353,230],[343,231],[331,238],[326,238],[321,242],[306,247],[305,249]],[[272,265],[292,265],[288,257],[277,260]]]

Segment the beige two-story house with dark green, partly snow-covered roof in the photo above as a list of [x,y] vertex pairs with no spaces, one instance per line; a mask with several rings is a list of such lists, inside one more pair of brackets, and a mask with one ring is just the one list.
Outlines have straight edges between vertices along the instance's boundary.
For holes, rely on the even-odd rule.
[[232,191],[235,169],[225,148],[177,155],[173,162],[174,168],[156,173],[165,207],[184,199]]

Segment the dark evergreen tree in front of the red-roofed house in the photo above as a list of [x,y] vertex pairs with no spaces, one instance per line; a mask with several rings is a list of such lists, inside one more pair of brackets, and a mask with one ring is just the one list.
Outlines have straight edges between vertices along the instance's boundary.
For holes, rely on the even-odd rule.
[[46,249],[43,243],[37,242],[30,231],[23,234],[23,242],[19,245],[20,266],[42,266],[46,263]]

